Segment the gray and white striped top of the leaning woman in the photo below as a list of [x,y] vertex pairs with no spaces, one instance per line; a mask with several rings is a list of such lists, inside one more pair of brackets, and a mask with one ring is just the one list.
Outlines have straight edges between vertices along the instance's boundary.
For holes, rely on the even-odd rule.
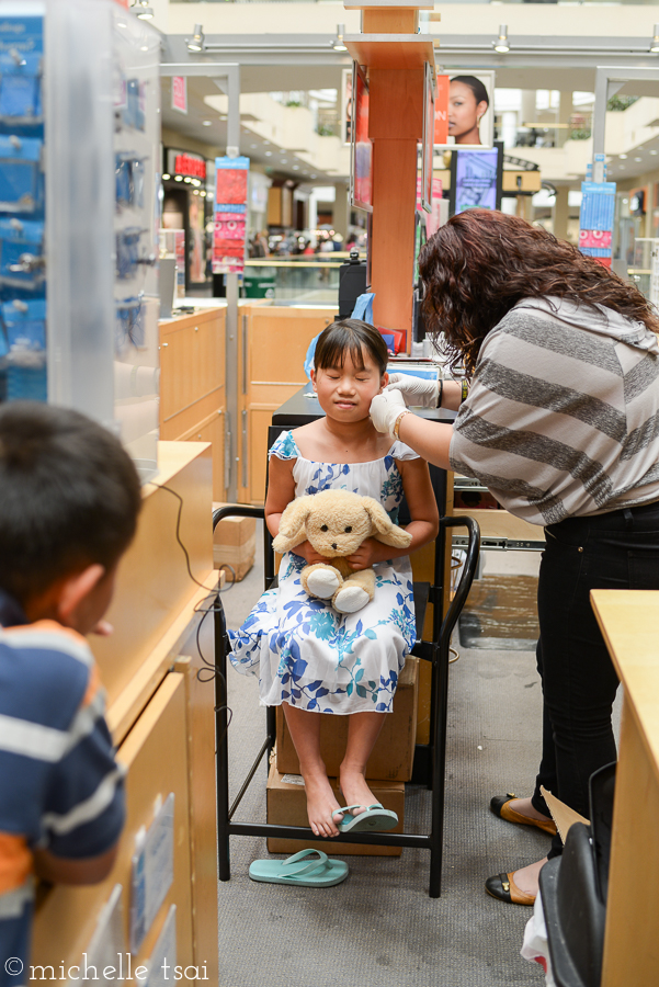
[[639,322],[525,299],[486,337],[451,466],[533,524],[659,499],[659,347]]

